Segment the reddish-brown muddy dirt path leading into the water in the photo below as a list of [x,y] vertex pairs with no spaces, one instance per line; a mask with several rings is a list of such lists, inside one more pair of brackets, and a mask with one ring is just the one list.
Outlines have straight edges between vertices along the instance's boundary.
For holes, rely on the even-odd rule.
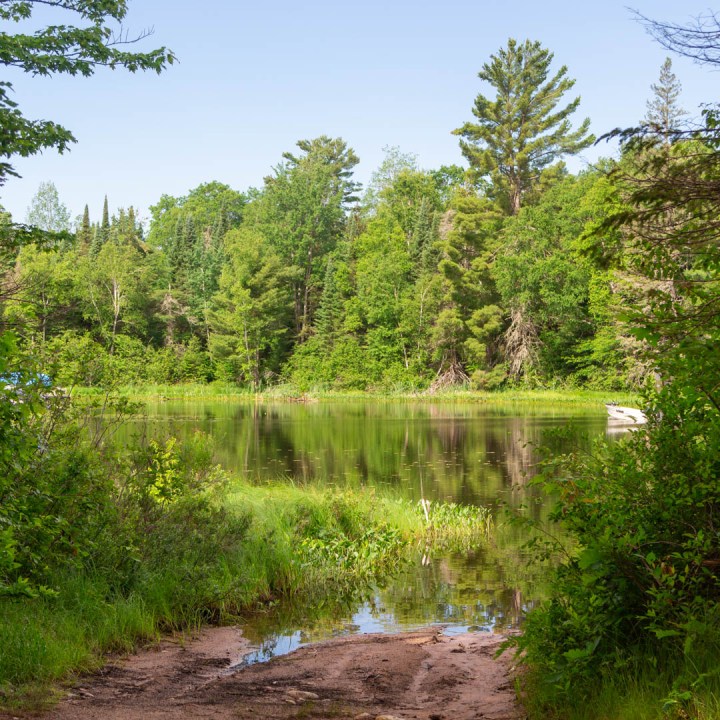
[[233,668],[249,643],[211,629],[110,663],[42,718],[518,720],[508,662],[493,659],[501,641],[436,629],[355,635]]

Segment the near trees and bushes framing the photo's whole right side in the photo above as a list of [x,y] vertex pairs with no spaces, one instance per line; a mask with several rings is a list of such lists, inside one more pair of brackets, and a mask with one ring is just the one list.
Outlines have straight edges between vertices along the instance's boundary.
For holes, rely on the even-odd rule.
[[565,710],[628,675],[652,688],[656,716],[711,717],[704,707],[717,708],[717,128],[707,109],[692,132],[622,134],[619,202],[589,235],[590,249],[632,287],[625,331],[653,382],[646,430],[570,456],[549,479],[555,519],[576,545],[518,645],[542,697]]

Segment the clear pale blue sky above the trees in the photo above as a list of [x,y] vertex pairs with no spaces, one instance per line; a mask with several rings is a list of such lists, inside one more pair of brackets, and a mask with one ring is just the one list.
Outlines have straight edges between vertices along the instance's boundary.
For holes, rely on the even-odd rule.
[[[166,46],[179,62],[161,75],[6,70],[24,114],[60,122],[78,142],[63,155],[16,158],[22,178],[0,187],[0,204],[23,221],[39,184],[52,181],[73,217],[87,203],[98,220],[107,195],[111,212],[133,205],[147,219],[161,195],[203,182],[260,187],[283,152],[323,134],[355,150],[364,183],[387,146],[426,169],[463,164],[451,132],[472,119],[478,93],[490,94],[477,73],[510,37],[540,41],[553,68],[568,67],[576,80],[568,99],[581,97],[576,123],[589,117],[596,135],[627,127],[644,116],[667,51],[626,1],[129,0],[125,27],[153,30],[134,48]],[[632,8],[681,23],[709,9],[680,5],[635,0]],[[718,73],[676,57],[673,70],[692,114],[718,100]],[[613,153],[603,143],[569,165],[578,171]]]

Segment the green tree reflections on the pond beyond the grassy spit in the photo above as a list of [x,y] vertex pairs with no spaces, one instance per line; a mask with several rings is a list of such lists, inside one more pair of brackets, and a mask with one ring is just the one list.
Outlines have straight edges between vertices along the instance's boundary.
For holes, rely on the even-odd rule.
[[479,403],[345,402],[314,405],[167,402],[147,407],[151,433],[200,428],[219,460],[267,482],[371,486],[419,500],[488,505],[535,471],[536,447],[572,423],[573,443],[602,434],[597,409]]

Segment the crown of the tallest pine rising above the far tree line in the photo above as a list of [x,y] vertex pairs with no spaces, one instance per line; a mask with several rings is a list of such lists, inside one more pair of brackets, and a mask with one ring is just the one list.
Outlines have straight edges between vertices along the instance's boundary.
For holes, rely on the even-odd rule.
[[577,97],[559,104],[575,84],[562,66],[550,79],[553,54],[539,42],[508,40],[507,48],[490,57],[478,73],[495,90],[495,98],[478,95],[475,122],[454,130],[474,175],[489,177],[493,194],[511,215],[538,182],[541,172],[564,155],[580,152],[594,138],[585,119],[573,130],[570,116]]

